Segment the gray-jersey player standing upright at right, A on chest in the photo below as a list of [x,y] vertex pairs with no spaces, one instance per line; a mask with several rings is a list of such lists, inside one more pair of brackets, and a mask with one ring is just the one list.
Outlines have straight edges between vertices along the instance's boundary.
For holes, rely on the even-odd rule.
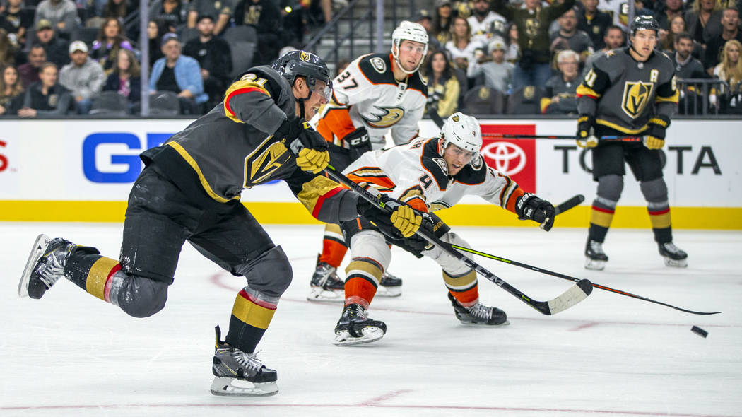
[[[659,30],[653,17],[637,16],[631,23],[631,46],[605,52],[577,88],[577,145],[592,148],[593,179],[598,183],[585,246],[587,269],[603,269],[608,261],[602,246],[623,191],[624,161],[647,200],[660,255],[667,266],[687,266],[688,255],[672,243],[667,185],[660,160],[678,93],[672,60],[654,49]],[[643,144],[596,139],[626,134],[643,136]]]

